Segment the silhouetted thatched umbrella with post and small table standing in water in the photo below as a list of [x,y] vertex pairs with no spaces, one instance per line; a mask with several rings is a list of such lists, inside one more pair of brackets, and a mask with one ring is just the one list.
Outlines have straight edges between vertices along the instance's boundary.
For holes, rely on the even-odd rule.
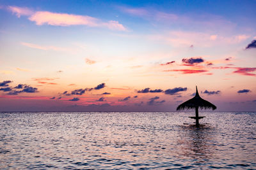
[[204,118],[204,117],[198,117],[198,108],[200,109],[212,109],[212,110],[216,110],[216,106],[214,106],[214,104],[209,103],[209,101],[205,101],[204,99],[202,99],[197,91],[197,87],[196,87],[196,95],[195,97],[193,97],[192,99],[189,99],[188,101],[185,101],[184,103],[180,104],[177,107],[177,110],[189,110],[189,109],[194,109],[196,110],[196,116],[195,117],[190,117],[190,118],[194,118],[196,120],[196,125],[199,125],[199,119],[200,118]]

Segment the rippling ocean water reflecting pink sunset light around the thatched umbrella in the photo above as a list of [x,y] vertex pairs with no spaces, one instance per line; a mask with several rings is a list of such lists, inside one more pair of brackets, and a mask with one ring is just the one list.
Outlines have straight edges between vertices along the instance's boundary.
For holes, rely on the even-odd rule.
[[256,169],[256,112],[0,113],[0,169]]

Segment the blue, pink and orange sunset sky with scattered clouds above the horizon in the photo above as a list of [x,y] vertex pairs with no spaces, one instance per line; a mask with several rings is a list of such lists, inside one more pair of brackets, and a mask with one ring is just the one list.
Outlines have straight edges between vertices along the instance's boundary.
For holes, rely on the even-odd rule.
[[255,6],[0,0],[0,111],[256,111]]

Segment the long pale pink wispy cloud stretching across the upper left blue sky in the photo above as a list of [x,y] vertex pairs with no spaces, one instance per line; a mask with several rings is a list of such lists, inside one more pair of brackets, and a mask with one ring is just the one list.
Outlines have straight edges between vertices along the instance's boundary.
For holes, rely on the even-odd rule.
[[51,11],[33,11],[29,8],[22,8],[18,6],[9,6],[8,9],[12,11],[17,17],[21,15],[29,16],[29,20],[35,22],[36,25],[54,25],[54,26],[70,26],[70,25],[86,25],[88,27],[106,27],[111,30],[126,31],[124,25],[118,21],[109,20],[103,22],[102,20],[87,15],[74,15],[68,13],[54,13]]

